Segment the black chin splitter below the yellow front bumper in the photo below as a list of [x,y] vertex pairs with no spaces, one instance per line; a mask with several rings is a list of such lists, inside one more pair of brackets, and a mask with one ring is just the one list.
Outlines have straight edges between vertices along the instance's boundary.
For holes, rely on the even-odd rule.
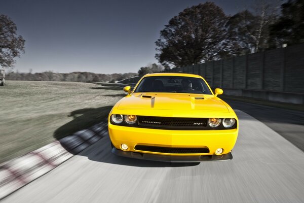
[[164,161],[164,162],[203,162],[203,161],[226,161],[233,158],[232,153],[229,152],[223,155],[195,155],[195,156],[170,156],[170,155],[159,155],[159,154],[149,154],[149,153],[138,153],[131,151],[122,151],[112,148],[112,153],[118,156],[144,159],[151,161]]

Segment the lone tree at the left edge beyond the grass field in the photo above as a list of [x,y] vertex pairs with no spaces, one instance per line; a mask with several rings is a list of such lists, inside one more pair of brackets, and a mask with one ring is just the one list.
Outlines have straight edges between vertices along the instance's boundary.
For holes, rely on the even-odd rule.
[[22,36],[17,36],[16,24],[6,15],[0,15],[0,65],[12,67],[14,58],[24,53]]

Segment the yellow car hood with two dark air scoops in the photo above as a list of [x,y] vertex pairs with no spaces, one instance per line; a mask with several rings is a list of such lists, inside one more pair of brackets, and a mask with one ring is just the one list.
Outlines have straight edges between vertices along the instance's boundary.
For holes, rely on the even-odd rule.
[[118,109],[202,110],[229,113],[218,97],[186,93],[133,93],[121,99]]

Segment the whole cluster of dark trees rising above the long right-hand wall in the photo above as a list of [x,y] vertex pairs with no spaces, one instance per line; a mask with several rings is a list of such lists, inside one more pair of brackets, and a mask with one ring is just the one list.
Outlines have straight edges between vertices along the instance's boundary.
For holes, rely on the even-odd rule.
[[281,12],[256,3],[233,16],[211,2],[184,9],[160,31],[156,59],[168,69],[304,43],[303,0],[288,0]]

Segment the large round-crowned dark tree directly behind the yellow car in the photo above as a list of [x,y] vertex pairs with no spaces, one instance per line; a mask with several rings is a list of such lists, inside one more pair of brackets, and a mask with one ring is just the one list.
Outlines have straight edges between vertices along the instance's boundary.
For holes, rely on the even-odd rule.
[[165,67],[192,65],[227,56],[227,17],[214,3],[184,9],[160,32],[156,58]]

